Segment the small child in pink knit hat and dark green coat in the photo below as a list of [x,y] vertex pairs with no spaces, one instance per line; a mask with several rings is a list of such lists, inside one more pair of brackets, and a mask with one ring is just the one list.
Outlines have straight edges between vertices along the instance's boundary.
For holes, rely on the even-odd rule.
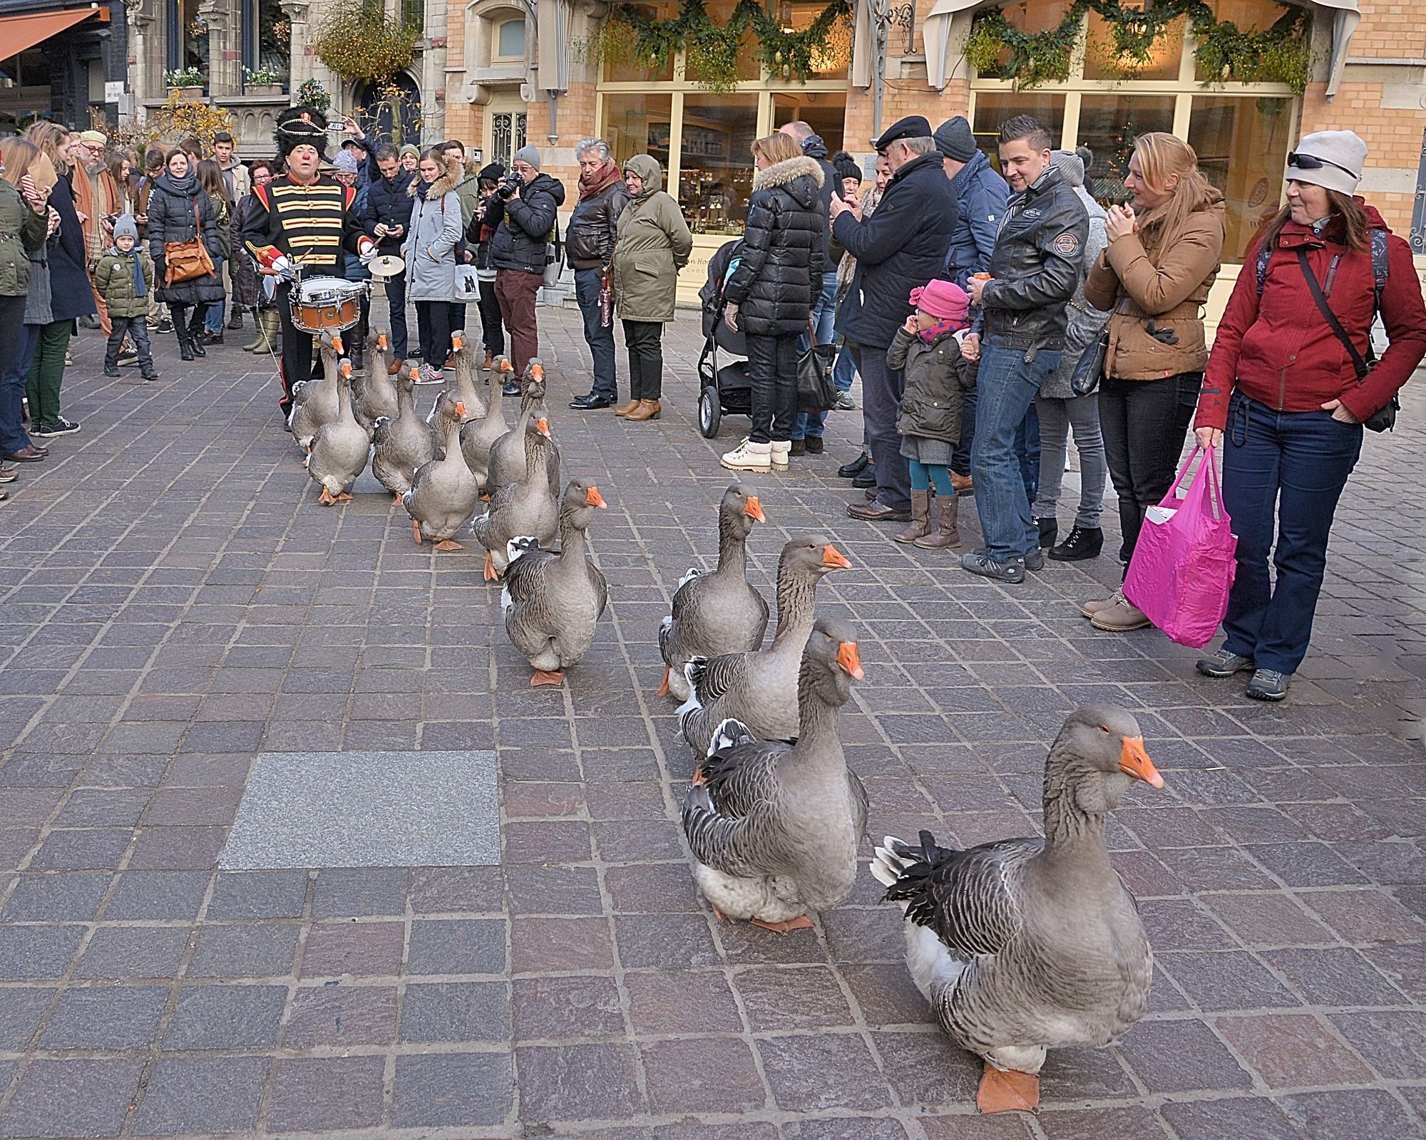
[[961,539],[950,463],[961,437],[965,369],[960,333],[970,325],[971,301],[960,285],[931,281],[911,289],[911,304],[915,312],[887,351],[887,365],[906,370],[896,429],[911,469],[911,522],[894,537],[924,550],[957,549]]

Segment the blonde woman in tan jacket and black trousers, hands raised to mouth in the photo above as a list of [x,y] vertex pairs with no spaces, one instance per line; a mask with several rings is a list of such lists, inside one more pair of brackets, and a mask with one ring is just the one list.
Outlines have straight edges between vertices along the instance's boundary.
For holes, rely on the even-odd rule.
[[[1202,314],[1222,261],[1224,195],[1198,170],[1194,148],[1162,131],[1134,140],[1124,185],[1134,208],[1109,209],[1109,244],[1089,269],[1084,296],[1112,314],[1099,423],[1119,496],[1119,559],[1128,567],[1144,512],[1174,482],[1198,406],[1208,363]],[[1085,603],[1084,614],[1101,630],[1149,624],[1122,590]]]

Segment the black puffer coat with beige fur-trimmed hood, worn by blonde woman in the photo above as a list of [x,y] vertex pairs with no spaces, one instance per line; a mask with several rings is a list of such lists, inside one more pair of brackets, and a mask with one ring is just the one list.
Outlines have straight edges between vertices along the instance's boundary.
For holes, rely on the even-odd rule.
[[821,167],[804,154],[753,175],[743,258],[723,294],[754,336],[807,331],[826,264],[821,184]]

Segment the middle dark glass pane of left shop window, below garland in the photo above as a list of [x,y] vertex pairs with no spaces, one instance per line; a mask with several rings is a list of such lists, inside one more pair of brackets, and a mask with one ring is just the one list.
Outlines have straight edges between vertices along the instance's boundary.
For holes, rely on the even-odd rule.
[[676,197],[694,234],[742,234],[747,224],[757,103],[756,94],[684,95]]

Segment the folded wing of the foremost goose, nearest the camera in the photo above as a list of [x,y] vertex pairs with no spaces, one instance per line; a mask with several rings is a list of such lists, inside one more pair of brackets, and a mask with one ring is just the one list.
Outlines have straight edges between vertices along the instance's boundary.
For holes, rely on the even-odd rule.
[[1020,872],[1042,848],[1042,839],[1004,839],[954,851],[923,831],[920,846],[893,842],[901,874],[886,898],[904,902],[906,916],[957,958],[1000,953],[1024,928]]

